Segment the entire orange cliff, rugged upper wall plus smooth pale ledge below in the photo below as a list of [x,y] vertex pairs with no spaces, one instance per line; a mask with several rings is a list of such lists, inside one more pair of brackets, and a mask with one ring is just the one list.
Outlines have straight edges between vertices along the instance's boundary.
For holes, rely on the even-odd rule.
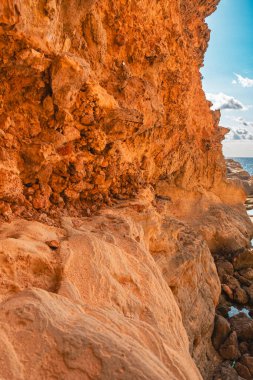
[[1,2],[3,379],[194,380],[219,361],[211,252],[253,230],[201,87],[217,3]]

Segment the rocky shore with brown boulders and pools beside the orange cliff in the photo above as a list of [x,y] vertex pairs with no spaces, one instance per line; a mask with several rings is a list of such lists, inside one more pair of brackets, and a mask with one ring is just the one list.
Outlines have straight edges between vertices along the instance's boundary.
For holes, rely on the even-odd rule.
[[[245,208],[253,223],[252,177],[236,159],[227,159],[230,180],[241,183],[247,190]],[[253,248],[214,256],[221,296],[216,309],[212,342],[219,352],[221,364],[214,379],[253,376]]]

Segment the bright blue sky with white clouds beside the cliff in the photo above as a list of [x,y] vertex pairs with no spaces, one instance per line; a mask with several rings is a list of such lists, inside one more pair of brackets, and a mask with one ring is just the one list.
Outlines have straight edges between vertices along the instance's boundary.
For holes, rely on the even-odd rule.
[[212,32],[203,87],[221,109],[220,125],[231,128],[224,154],[253,157],[253,0],[221,0],[206,21]]

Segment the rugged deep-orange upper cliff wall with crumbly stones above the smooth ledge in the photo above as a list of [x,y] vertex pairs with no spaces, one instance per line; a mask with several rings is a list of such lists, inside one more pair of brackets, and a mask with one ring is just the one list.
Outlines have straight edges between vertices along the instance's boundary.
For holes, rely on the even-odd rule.
[[199,73],[217,2],[1,2],[1,197],[87,210],[159,180],[218,187]]

